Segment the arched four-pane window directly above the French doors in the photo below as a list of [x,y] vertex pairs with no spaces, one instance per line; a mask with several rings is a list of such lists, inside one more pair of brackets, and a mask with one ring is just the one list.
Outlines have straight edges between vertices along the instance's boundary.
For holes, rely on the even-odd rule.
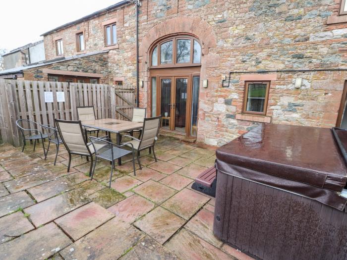
[[201,63],[201,45],[192,36],[165,39],[152,48],[151,66],[193,66]]

